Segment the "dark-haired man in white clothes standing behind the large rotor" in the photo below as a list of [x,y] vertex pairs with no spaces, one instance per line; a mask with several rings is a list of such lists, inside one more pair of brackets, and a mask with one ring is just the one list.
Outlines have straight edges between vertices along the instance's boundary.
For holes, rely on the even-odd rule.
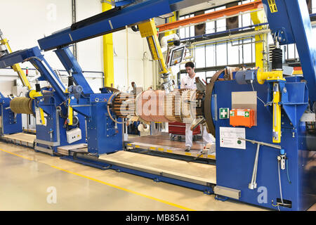
[[[192,62],[185,63],[185,70],[188,76],[181,79],[180,89],[197,89],[195,84],[195,64]],[[190,129],[192,124],[185,124],[185,151],[190,151],[192,148],[192,131]],[[203,143],[206,146],[207,143],[213,143],[214,137],[209,134],[206,127],[203,126]]]

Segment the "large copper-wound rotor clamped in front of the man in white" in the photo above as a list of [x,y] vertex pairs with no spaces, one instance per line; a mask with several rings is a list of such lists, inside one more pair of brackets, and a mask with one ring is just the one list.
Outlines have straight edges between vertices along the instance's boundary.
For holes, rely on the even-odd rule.
[[196,101],[203,97],[202,92],[183,89],[169,94],[162,90],[147,90],[138,96],[120,93],[113,98],[112,111],[118,117],[137,116],[146,122],[190,123],[201,114]]

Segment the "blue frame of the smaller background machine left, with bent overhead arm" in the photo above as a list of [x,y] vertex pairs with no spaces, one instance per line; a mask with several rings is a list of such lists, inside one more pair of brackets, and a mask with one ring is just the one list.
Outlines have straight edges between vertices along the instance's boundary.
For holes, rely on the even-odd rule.
[[[67,108],[65,107],[65,105],[67,105],[66,89],[50,65],[48,65],[38,47],[16,51],[1,57],[0,68],[6,68],[26,60],[39,70],[41,74],[39,80],[47,81],[53,87],[53,89],[42,89],[42,96],[36,97],[33,100],[34,113],[37,111],[37,108],[41,108],[44,113],[46,113],[45,124],[37,123],[36,125],[37,139],[35,140],[35,150],[53,155],[57,152],[59,146],[70,145],[70,143],[67,142],[66,131],[75,128],[74,126],[64,126],[65,120],[67,120],[67,117],[63,118],[63,115],[67,115]],[[18,115],[18,117],[21,117],[21,115]],[[37,117],[39,117],[39,115],[37,115]],[[81,129],[81,139],[75,141],[73,144],[86,143],[85,118],[83,115],[77,115],[77,117],[79,119],[78,127]]]

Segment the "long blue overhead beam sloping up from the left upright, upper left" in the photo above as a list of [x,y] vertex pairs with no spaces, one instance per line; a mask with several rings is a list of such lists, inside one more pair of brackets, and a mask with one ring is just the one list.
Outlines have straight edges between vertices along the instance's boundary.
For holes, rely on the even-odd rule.
[[39,39],[38,42],[42,50],[48,51],[60,46],[67,46],[79,41],[111,33],[116,30],[122,30],[126,27],[126,25],[133,25],[135,23],[139,23],[140,21],[149,20],[150,18],[164,15],[166,13],[171,13],[168,0],[147,0],[140,4],[133,4],[126,8],[121,8],[110,15],[105,13],[103,14],[105,19],[100,20],[99,18],[96,23],[90,21],[87,25],[75,30],[68,27],[60,32],[52,34],[51,36]]

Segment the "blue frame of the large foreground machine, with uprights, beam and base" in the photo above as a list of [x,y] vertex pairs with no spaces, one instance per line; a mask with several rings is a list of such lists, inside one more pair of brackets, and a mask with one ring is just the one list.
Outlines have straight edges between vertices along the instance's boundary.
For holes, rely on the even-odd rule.
[[[180,0],[159,0],[159,1],[142,1],[140,4],[131,4],[125,8],[115,8],[88,18],[79,23],[75,23],[72,27],[56,32],[49,37],[39,39],[39,46],[42,50],[48,51],[56,49],[55,53],[64,65],[67,71],[70,71],[77,84],[77,88],[70,89],[70,94],[65,96],[62,86],[56,84],[55,91],[63,102],[70,99],[69,105],[74,108],[77,113],[84,115],[87,121],[88,131],[88,153],[96,156],[103,153],[114,153],[122,150],[121,126],[118,126],[110,119],[107,112],[107,104],[111,94],[94,94],[91,87],[84,79],[81,68],[67,45],[98,37],[103,34],[123,29],[126,25],[133,25],[140,21],[148,20],[155,16],[171,13],[174,11],[174,5],[184,1]],[[126,3],[126,1],[125,1]],[[308,167],[308,153],[310,149],[306,145],[307,132],[305,123],[301,122],[301,115],[308,106],[308,98],[312,105],[316,101],[315,93],[315,49],[312,45],[312,32],[310,26],[310,18],[308,16],[305,0],[293,1],[273,1],[277,10],[270,11],[268,4],[270,0],[263,0],[263,4],[267,6],[266,13],[272,35],[279,44],[296,43],[301,65],[303,69],[304,79],[301,77],[289,77],[285,81],[279,82],[282,90],[282,98],[279,105],[282,105],[282,141],[279,143],[281,150],[276,150],[268,146],[261,146],[258,154],[257,182],[258,188],[249,188],[251,174],[253,174],[254,158],[256,156],[256,146],[251,142],[246,142],[246,149],[224,148],[220,146],[220,127],[231,127],[229,120],[217,120],[213,117],[216,127],[216,186],[230,188],[230,190],[239,191],[238,200],[282,210],[306,210],[310,205],[315,203],[315,186],[312,177],[315,171],[314,167]],[[291,15],[291,16],[289,16]],[[39,51],[38,49],[34,49]],[[23,53],[24,54],[24,53]],[[22,54],[22,55],[23,55]],[[18,56],[21,53],[18,53]],[[27,55],[27,58],[30,56]],[[35,56],[39,57],[40,56]],[[22,58],[22,60],[24,60]],[[1,60],[3,60],[1,58]],[[1,67],[0,60],[0,67]],[[11,58],[10,60],[16,60]],[[37,65],[40,61],[37,58],[30,58]],[[42,59],[43,60],[43,59]],[[20,59],[18,60],[20,61]],[[8,61],[4,65],[7,65]],[[11,62],[12,63],[12,62]],[[13,63],[18,63],[14,61]],[[44,70],[42,65],[37,65],[39,70]],[[47,68],[46,68],[47,70]],[[47,70],[48,72],[52,72]],[[254,74],[256,71],[254,71]],[[222,75],[223,76],[223,75]],[[235,74],[234,74],[235,76]],[[48,76],[48,79],[51,79]],[[252,81],[254,81],[253,79]],[[56,82],[52,79],[51,82]],[[272,101],[272,83],[257,84],[254,82],[254,89],[259,98],[264,99],[266,103]],[[253,91],[249,84],[238,84],[236,80],[215,82],[213,88],[211,111],[213,115],[218,108],[232,108],[232,98],[228,92]],[[45,98],[45,96],[43,97]],[[48,100],[47,100],[48,99]],[[47,97],[46,102],[51,103],[53,98]],[[58,101],[58,102],[60,102]],[[214,103],[216,101],[216,104]],[[52,105],[43,105],[39,103],[46,111]],[[47,107],[46,107],[47,106]],[[264,143],[271,142],[272,130],[272,110],[270,106],[257,103],[257,125],[255,127],[243,127],[246,139],[260,141]],[[115,115],[112,115],[115,117]],[[120,119],[117,119],[121,122]],[[279,155],[287,154],[287,170],[280,173],[278,165]],[[171,184],[196,188],[197,190],[213,193],[212,186],[199,186],[190,182],[180,181],[178,179],[170,179],[164,176],[157,176],[145,172],[136,171],[124,167],[107,165],[98,160],[87,160],[85,158],[74,158],[72,156],[65,157],[67,160],[74,160],[100,169],[105,167],[116,169],[131,174],[145,176],[151,179],[162,180]],[[108,167],[107,167],[108,166]],[[314,170],[313,170],[314,169]],[[280,179],[279,179],[280,178]],[[282,191],[282,192],[281,192]],[[282,204],[279,198],[282,195]],[[289,204],[287,205],[284,203]]]

